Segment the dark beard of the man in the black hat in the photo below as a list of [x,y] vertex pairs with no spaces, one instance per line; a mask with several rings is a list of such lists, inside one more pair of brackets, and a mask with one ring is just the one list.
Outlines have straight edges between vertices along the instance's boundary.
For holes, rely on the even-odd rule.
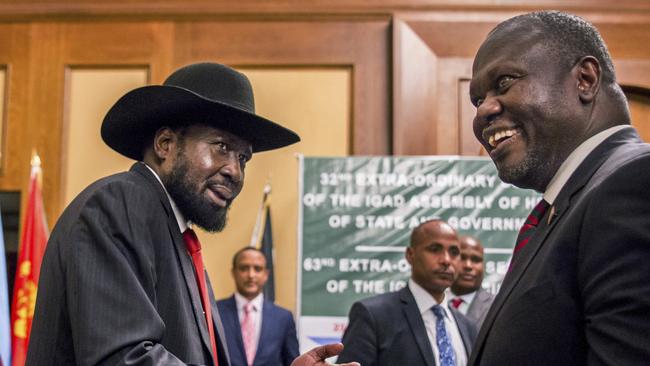
[[207,188],[201,188],[199,179],[192,176],[183,151],[178,152],[171,173],[161,176],[160,180],[185,219],[208,232],[224,229],[230,202],[226,207],[221,207],[202,195]]

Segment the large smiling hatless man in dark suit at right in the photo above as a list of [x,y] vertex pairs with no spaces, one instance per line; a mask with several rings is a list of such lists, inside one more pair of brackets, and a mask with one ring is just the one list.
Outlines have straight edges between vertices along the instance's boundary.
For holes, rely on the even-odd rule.
[[648,364],[650,146],[598,31],[559,12],[509,19],[481,45],[470,94],[501,179],[545,201],[470,365]]

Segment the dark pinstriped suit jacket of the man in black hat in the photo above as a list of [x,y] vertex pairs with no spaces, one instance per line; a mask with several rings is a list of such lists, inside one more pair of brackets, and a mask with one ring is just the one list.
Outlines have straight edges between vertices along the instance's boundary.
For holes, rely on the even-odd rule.
[[86,188],[48,241],[27,365],[211,365],[209,344],[192,261],[155,176],[136,163]]

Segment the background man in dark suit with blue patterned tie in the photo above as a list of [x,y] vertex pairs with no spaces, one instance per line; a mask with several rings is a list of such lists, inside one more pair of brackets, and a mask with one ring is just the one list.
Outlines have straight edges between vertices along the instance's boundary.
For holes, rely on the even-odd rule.
[[339,360],[363,366],[465,365],[476,329],[445,301],[459,257],[458,236],[444,221],[413,230],[406,248],[412,268],[408,286],[352,305]]

